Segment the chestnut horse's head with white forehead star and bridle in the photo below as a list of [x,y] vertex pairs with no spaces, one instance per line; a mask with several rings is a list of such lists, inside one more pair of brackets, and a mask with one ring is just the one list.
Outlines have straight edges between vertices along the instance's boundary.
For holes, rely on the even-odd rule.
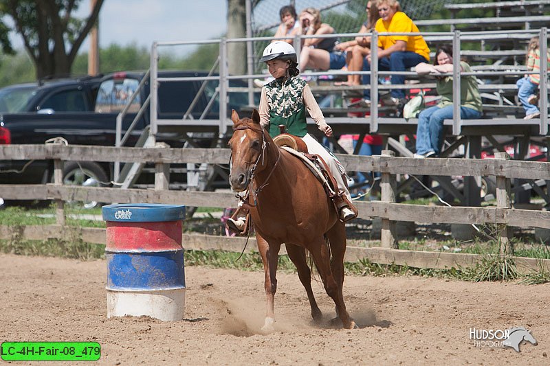
[[234,110],[231,119],[233,136],[229,140],[232,155],[229,182],[232,190],[241,192],[250,184],[256,165],[261,170],[266,133],[260,125],[260,115],[256,109],[252,111],[252,119],[241,119]]

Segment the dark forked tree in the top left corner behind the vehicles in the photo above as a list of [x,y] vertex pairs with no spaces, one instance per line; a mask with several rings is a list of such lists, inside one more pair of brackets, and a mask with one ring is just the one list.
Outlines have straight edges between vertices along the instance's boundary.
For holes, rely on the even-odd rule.
[[[76,19],[72,13],[81,0],[0,0],[0,10],[8,15],[14,30],[23,38],[36,77],[69,74],[78,49],[96,23],[104,0],[96,0],[87,19]],[[10,52],[7,26],[0,22],[0,45]]]

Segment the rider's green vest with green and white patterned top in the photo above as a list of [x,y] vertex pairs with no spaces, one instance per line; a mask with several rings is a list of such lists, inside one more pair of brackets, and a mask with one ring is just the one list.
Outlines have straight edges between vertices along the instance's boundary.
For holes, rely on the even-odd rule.
[[278,125],[284,124],[291,135],[304,137],[307,133],[304,105],[304,87],[302,78],[294,77],[284,82],[273,80],[265,85],[267,105],[270,110],[270,135],[275,137],[281,132]]

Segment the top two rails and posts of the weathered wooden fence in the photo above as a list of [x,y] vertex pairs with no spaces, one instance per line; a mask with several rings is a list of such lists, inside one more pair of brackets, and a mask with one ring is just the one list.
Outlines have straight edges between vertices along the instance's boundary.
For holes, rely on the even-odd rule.
[[[0,146],[0,160],[54,159],[56,170],[62,161],[126,161],[156,163],[157,170],[170,163],[228,163],[228,149],[111,148],[102,146],[13,145]],[[382,201],[356,202],[361,218],[382,218],[382,247],[397,247],[395,222],[428,222],[468,225],[498,225],[498,240],[509,242],[509,226],[550,229],[550,211],[511,207],[510,179],[550,180],[550,163],[505,159],[412,159],[382,156],[338,155],[347,170],[382,173]],[[497,177],[496,207],[432,207],[395,203],[397,174],[431,176]],[[155,180],[168,179],[155,174]],[[235,207],[232,193],[166,190],[166,182],[155,181],[155,190],[61,185],[0,185],[4,199],[54,199],[118,203],[181,203],[196,207]],[[58,224],[64,224],[63,205],[58,205]]]

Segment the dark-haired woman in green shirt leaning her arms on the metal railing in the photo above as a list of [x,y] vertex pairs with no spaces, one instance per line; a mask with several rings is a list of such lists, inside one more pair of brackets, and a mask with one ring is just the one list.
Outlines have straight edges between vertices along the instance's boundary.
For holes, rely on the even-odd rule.
[[[416,66],[419,75],[427,73],[452,72],[452,48],[439,46],[435,52],[434,65],[419,63]],[[460,69],[472,72],[465,61],[460,61]],[[443,148],[443,120],[452,118],[452,76],[436,76],[437,93],[441,101],[420,112],[417,125],[416,158],[425,158],[441,154]],[[475,76],[462,76],[460,83],[460,117],[474,119],[481,117],[483,107]]]

